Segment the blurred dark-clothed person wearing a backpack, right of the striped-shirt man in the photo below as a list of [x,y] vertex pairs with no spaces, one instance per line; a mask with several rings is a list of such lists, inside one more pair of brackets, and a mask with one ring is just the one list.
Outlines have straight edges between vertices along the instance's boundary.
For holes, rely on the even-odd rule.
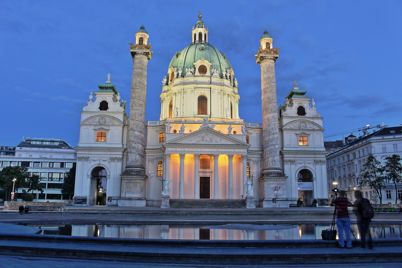
[[361,245],[357,247],[359,250],[366,248],[366,235],[369,238],[367,244],[369,249],[373,249],[373,240],[371,239],[370,222],[374,217],[374,209],[367,198],[363,198],[361,191],[356,191],[355,196],[358,200],[353,204],[353,211],[357,216],[357,223],[359,224],[359,231],[361,237]]

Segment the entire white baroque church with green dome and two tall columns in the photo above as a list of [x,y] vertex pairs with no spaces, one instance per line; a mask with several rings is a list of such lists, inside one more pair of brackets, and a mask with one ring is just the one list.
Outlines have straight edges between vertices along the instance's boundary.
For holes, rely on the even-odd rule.
[[[170,203],[199,199],[191,200],[199,204],[209,198],[219,204],[245,197],[249,208],[289,207],[300,196],[307,204],[327,197],[322,117],[295,82],[277,107],[279,52],[267,31],[256,55],[262,123],[240,119],[234,70],[226,54],[209,43],[201,15],[191,44],[168,65],[160,119],[145,121],[152,51],[144,27],[135,37],[130,117],[110,76],[81,112],[76,204],[95,204],[99,191],[106,191],[106,205],[142,207],[168,207],[169,198]],[[304,182],[303,189],[298,182]]]

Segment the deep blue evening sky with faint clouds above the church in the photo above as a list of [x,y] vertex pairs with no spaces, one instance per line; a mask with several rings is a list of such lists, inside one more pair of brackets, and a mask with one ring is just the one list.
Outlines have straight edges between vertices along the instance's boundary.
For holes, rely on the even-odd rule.
[[0,0],[0,144],[30,136],[76,146],[80,111],[108,73],[129,101],[128,43],[142,24],[154,51],[146,120],[158,120],[162,78],[191,42],[199,9],[209,43],[226,53],[239,82],[240,118],[262,121],[254,55],[267,29],[281,48],[278,104],[295,79],[324,117],[324,135],[402,123],[401,1],[193,2]]

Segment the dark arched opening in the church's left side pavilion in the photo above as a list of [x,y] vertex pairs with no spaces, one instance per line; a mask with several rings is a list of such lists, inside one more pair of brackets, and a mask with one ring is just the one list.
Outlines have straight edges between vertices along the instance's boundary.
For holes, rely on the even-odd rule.
[[90,205],[106,205],[107,170],[98,166],[91,173]]

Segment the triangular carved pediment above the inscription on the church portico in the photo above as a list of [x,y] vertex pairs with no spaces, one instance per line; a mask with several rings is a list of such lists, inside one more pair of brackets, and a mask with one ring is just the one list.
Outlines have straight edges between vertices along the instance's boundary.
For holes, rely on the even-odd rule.
[[232,145],[249,147],[250,144],[238,139],[234,139],[229,135],[222,134],[216,130],[205,127],[192,133],[186,134],[182,137],[172,139],[163,143],[163,145]]

